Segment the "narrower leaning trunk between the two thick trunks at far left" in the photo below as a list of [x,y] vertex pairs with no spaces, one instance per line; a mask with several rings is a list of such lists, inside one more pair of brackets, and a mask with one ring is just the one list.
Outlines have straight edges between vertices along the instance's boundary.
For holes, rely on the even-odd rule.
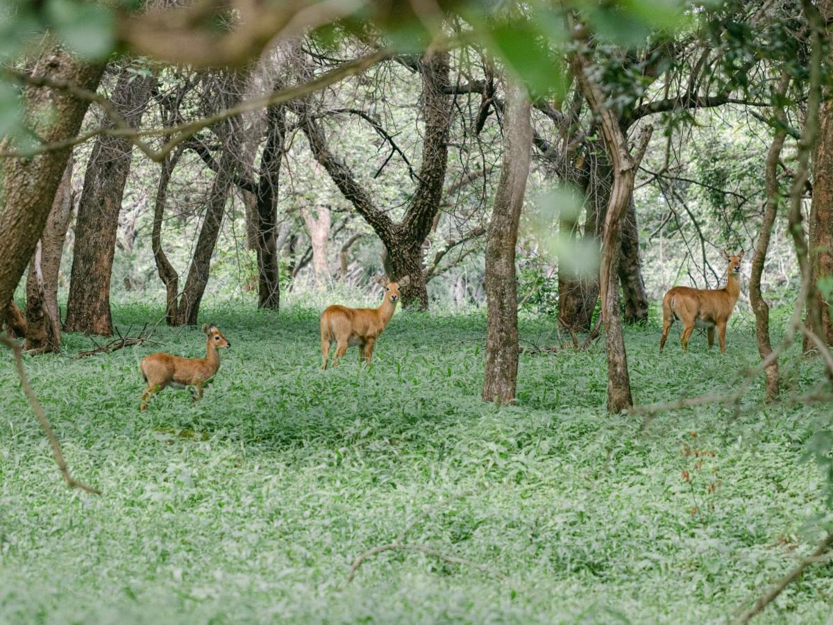
[[72,216],[72,158],[55,193],[47,225],[29,263],[26,278],[26,343],[33,352],[57,352],[61,348],[61,315],[57,308],[57,278],[63,243]]

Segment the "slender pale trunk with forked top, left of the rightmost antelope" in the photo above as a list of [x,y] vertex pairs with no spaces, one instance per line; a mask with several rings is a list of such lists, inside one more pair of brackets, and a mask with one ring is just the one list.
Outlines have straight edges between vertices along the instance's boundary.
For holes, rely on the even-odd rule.
[[587,72],[591,63],[584,55],[585,52],[576,52],[571,57],[573,75],[593,112],[600,117],[602,138],[613,167],[613,188],[611,188],[611,198],[607,205],[605,226],[601,237],[599,287],[607,352],[607,410],[611,413],[621,413],[622,410],[631,408],[633,399],[631,398],[631,378],[627,368],[625,336],[619,313],[619,284],[615,269],[621,250],[622,222],[631,202],[636,169],[651,138],[651,127],[647,127],[643,132],[636,155],[631,156],[631,150],[628,148],[627,139],[622,133],[618,119],[606,106],[601,88],[593,82]]

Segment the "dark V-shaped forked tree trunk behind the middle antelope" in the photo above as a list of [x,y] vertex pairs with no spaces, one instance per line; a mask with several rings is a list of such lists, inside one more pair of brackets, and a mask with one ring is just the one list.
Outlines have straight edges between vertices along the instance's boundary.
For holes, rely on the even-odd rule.
[[431,224],[441,205],[442,187],[448,164],[448,133],[453,109],[449,91],[447,52],[434,52],[423,58],[417,69],[422,78],[421,115],[425,119],[422,141],[422,162],[418,183],[400,223],[373,202],[370,193],[357,183],[347,164],[327,147],[327,138],[309,111],[302,112],[302,129],[307,135],[312,154],[332,178],[342,195],[382,239],[387,249],[388,278],[410,277],[402,289],[402,305],[428,308],[428,291],[422,268],[422,244],[431,232]]

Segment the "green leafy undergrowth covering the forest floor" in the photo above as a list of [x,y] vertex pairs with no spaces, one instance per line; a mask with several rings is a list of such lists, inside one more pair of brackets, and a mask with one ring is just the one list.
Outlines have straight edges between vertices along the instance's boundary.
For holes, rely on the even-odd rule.
[[[161,313],[115,311],[122,328]],[[89,341],[67,335],[64,354],[26,359],[72,472],[102,497],[64,487],[0,352],[0,621],[720,622],[820,536],[825,478],[806,448],[829,405],[611,417],[596,344],[523,353],[519,403],[498,410],[480,400],[482,314],[397,313],[371,370],[351,348],[327,372],[314,311],[202,319],[233,346],[202,403],[166,389],[137,410],[138,359],[202,355],[194,328],[82,360]],[[746,328],[723,356],[699,334],[682,355],[679,326],[659,356],[656,323],[628,329],[636,401],[732,388],[757,361]],[[550,332],[527,320],[521,337]],[[789,384],[819,379],[790,358]],[[483,568],[397,550],[347,583],[353,558],[406,530]],[[821,563],[761,622],[825,622],[831,606]]]

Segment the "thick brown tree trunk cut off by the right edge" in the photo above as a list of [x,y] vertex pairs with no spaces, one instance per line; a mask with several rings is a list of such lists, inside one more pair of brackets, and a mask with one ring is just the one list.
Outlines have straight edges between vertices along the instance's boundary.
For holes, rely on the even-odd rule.
[[[821,104],[821,126],[813,158],[813,199],[810,213],[811,282],[821,317],[821,340],[833,345],[833,102]],[[814,348],[804,338],[804,350]]]

